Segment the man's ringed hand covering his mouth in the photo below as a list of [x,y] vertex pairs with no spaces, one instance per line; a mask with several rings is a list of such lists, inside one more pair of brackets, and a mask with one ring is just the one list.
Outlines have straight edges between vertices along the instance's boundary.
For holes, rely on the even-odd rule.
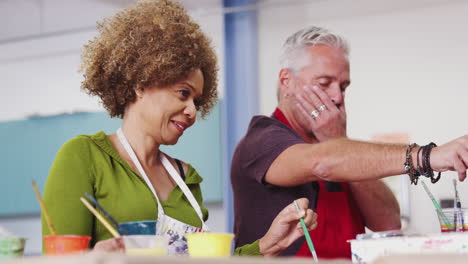
[[296,90],[298,122],[312,132],[319,142],[346,137],[344,104],[337,107],[318,86],[304,86]]

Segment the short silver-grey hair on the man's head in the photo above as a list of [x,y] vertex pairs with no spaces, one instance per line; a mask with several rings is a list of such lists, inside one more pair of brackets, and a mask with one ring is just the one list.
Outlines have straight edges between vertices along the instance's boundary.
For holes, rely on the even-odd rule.
[[307,66],[307,62],[303,59],[305,57],[304,51],[305,48],[314,45],[340,48],[346,57],[349,56],[348,43],[342,36],[325,28],[312,26],[299,30],[288,37],[281,50],[281,68],[297,71]]

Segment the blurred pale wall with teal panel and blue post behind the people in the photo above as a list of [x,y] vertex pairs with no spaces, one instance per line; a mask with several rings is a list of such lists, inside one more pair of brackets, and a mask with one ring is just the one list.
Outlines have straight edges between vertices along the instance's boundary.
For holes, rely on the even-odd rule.
[[[41,191],[56,151],[78,134],[104,129],[96,98],[80,91],[80,52],[96,23],[130,0],[0,0],[0,226],[41,252]],[[387,142],[442,144],[468,132],[466,0],[184,0],[211,37],[220,64],[220,101],[206,120],[165,149],[194,164],[213,231],[232,230],[229,164],[253,115],[276,106],[281,45],[310,25],[344,35],[351,46],[348,135]],[[436,233],[435,210],[408,177],[386,179],[400,201],[406,233]],[[434,196],[450,205],[454,173]],[[459,185],[462,205],[466,183]]]

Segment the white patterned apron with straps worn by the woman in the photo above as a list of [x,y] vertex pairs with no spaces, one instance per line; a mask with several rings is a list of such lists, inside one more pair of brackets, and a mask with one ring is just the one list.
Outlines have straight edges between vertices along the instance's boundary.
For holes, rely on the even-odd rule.
[[159,201],[158,195],[156,194],[156,191],[153,188],[153,185],[151,184],[148,176],[146,175],[145,170],[141,166],[140,161],[138,161],[138,158],[135,155],[135,152],[133,151],[132,147],[130,146],[130,143],[128,143],[127,138],[125,138],[122,128],[119,128],[119,130],[117,130],[117,137],[119,138],[120,143],[122,143],[122,145],[124,146],[133,163],[137,167],[141,177],[145,180],[146,185],[148,185],[150,190],[153,192],[156,201],[158,202],[159,210],[158,221],[156,223],[156,235],[161,235],[168,239],[169,255],[187,255],[187,240],[185,239],[185,234],[208,231],[208,227],[203,222],[203,214],[201,208],[195,200],[195,197],[193,197],[192,192],[182,180],[179,173],[175,170],[174,166],[172,166],[171,162],[169,162],[166,155],[161,153],[160,158],[164,168],[167,170],[169,175],[171,175],[172,179],[177,183],[179,188],[184,193],[185,197],[187,197],[188,201],[190,202],[190,205],[192,205],[193,209],[195,209],[195,211],[197,212],[197,215],[200,218],[200,221],[203,223],[203,226],[202,228],[191,226],[166,215],[164,213],[164,208],[162,207],[161,202]]

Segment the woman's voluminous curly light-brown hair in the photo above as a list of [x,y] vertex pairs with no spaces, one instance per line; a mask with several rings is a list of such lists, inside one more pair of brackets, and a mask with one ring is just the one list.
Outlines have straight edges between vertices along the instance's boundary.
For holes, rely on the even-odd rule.
[[200,26],[179,3],[139,1],[98,24],[85,45],[81,89],[100,97],[111,117],[122,118],[136,90],[175,84],[199,68],[204,77],[197,110],[204,117],[217,100],[216,55]]

